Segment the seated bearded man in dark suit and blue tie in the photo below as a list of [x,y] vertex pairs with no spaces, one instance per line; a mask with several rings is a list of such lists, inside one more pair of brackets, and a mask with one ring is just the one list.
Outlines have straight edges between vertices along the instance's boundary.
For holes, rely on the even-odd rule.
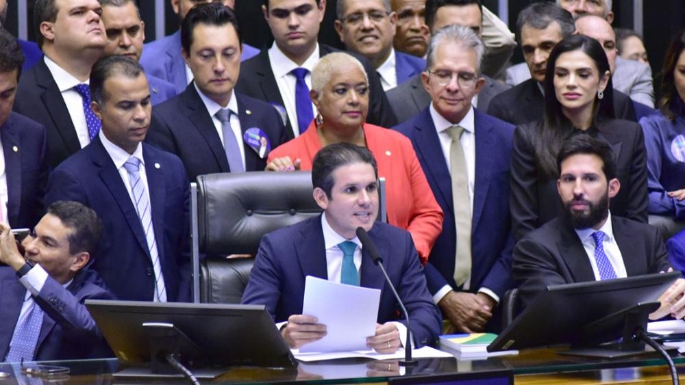
[[[552,284],[610,280],[671,271],[658,228],[611,215],[619,192],[616,161],[609,144],[590,135],[566,140],[557,157],[562,215],[521,239],[514,248],[513,273],[523,304]],[[685,316],[685,280],[660,297],[658,319]]]

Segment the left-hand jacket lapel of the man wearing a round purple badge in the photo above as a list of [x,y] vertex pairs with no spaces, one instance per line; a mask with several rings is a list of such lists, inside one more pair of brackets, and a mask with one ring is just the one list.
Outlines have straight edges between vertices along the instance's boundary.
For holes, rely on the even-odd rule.
[[221,145],[221,137],[219,137],[219,133],[216,132],[214,121],[207,111],[207,107],[205,107],[199,94],[197,94],[195,85],[188,85],[186,91],[187,92],[184,92],[183,97],[186,106],[188,106],[188,109],[190,110],[190,115],[188,116],[190,122],[192,122],[195,129],[202,135],[210,150],[212,150],[214,159],[216,159],[216,163],[219,164],[221,172],[229,172],[231,169],[228,165],[226,152]]

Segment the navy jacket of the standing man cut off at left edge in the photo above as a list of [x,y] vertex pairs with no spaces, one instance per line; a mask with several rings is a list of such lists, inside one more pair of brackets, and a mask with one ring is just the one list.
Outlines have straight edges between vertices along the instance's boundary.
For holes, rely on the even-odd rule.
[[5,155],[8,202],[5,210],[12,228],[36,226],[43,214],[47,184],[45,127],[12,112],[0,127]]

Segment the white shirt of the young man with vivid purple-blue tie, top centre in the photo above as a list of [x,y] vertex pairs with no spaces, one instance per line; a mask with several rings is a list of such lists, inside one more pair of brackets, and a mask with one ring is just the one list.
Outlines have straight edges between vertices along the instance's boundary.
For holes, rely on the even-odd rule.
[[[290,121],[290,127],[292,127],[292,132],[295,137],[299,136],[300,129],[297,123],[297,107],[295,106],[295,83],[297,83],[297,78],[292,75],[290,71],[295,68],[306,68],[309,73],[305,77],[304,81],[307,83],[307,87],[312,90],[312,70],[314,66],[319,63],[319,44],[316,44],[316,48],[312,55],[308,57],[301,66],[290,60],[283,51],[281,51],[276,43],[274,42],[268,51],[269,62],[271,63],[271,70],[273,71],[273,77],[276,79],[276,85],[278,85],[278,90],[281,93],[281,98],[283,99],[283,104],[288,114],[288,120]],[[312,103],[312,111],[314,111],[314,116],[316,116],[316,106]],[[302,127],[306,129],[307,127]]]

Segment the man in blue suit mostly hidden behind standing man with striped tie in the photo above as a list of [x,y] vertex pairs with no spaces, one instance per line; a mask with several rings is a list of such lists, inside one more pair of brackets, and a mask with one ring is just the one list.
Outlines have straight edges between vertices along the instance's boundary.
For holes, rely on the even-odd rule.
[[[102,23],[105,25],[107,45],[105,55],[127,55],[140,61],[142,42],[145,40],[145,22],[134,0],[99,0],[102,5]],[[172,83],[146,74],[150,86],[152,105],[158,105],[176,95]]]

